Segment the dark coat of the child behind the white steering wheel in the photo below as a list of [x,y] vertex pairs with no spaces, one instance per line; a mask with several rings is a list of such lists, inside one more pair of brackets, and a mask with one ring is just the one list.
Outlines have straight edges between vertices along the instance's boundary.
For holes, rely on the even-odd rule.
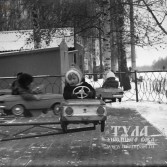
[[66,84],[66,86],[64,87],[64,92],[63,92],[63,97],[64,99],[79,99],[76,95],[73,94],[73,90],[78,87],[78,86],[86,86],[90,89],[90,92],[87,92],[87,90],[85,89],[85,92],[88,93],[88,96],[86,97],[87,99],[94,99],[96,92],[95,89],[88,84],[87,82],[82,82],[80,85],[76,85],[76,86],[70,86],[68,83]]

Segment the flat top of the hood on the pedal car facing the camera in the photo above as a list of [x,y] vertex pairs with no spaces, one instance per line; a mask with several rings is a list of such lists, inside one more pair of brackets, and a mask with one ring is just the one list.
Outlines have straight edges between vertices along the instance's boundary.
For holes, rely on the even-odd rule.
[[70,99],[64,100],[62,105],[78,106],[78,105],[105,105],[105,102],[97,99]]

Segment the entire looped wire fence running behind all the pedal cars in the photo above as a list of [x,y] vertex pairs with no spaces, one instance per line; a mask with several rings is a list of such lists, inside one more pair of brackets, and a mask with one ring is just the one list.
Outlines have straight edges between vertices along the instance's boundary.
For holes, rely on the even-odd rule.
[[[117,73],[118,76],[119,74]],[[167,102],[167,71],[135,71],[128,75],[131,89],[124,91],[122,101]],[[62,93],[63,78],[64,76],[34,76],[34,83],[45,84],[45,93]],[[9,89],[14,79],[15,77],[0,77],[0,89]],[[100,74],[86,74],[85,79],[94,88],[101,87],[103,84]]]

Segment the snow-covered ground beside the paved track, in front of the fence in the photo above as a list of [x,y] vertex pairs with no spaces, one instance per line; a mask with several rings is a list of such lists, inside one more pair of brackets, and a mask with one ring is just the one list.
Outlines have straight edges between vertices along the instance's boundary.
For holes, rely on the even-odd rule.
[[160,130],[163,135],[167,136],[167,104],[126,101],[107,104],[107,106],[135,109],[142,117]]

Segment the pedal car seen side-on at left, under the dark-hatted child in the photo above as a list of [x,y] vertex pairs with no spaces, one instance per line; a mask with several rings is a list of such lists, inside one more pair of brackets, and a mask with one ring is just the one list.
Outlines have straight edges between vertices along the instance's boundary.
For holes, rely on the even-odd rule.
[[58,114],[59,105],[63,100],[62,94],[46,93],[39,94],[39,96],[40,100],[24,100],[20,95],[1,95],[0,111],[14,114],[15,116],[22,116],[25,115],[27,110],[45,111],[47,109],[52,109],[54,114]]

